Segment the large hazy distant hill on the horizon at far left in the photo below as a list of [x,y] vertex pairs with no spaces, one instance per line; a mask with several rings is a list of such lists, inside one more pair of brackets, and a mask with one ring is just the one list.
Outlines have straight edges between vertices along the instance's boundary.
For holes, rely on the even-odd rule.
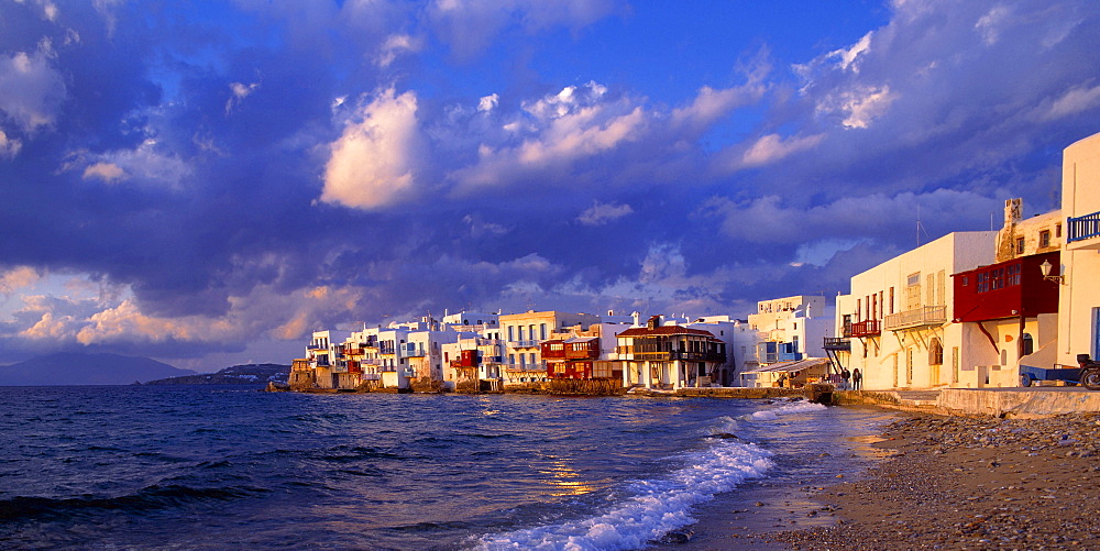
[[61,353],[0,366],[0,386],[129,385],[194,373],[148,357]]

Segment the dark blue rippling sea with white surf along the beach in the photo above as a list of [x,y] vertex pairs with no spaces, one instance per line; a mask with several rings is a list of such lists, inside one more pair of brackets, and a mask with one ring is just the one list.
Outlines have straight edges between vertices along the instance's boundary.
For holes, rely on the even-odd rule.
[[892,418],[248,385],[0,395],[0,549],[678,549],[765,529],[713,520],[777,488],[857,475]]

